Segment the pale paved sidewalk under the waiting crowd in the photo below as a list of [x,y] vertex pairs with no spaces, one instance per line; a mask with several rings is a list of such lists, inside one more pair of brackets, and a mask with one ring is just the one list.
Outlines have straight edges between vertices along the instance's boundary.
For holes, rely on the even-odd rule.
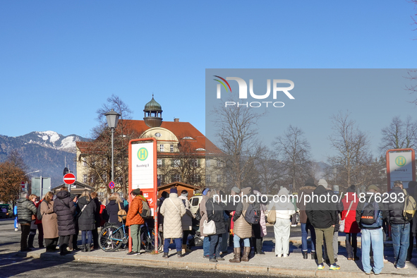
[[[330,271],[329,266],[325,266],[325,270],[317,270],[317,264],[314,260],[303,260],[300,241],[301,238],[291,238],[290,255],[288,258],[276,258],[274,252],[274,240],[268,238],[264,241],[264,250],[266,255],[255,255],[249,262],[230,263],[229,259],[233,258],[233,253],[224,255],[225,260],[217,263],[209,262],[203,258],[202,248],[193,248],[193,252],[187,254],[183,258],[176,257],[176,251],[171,250],[168,259],[163,259],[162,254],[151,255],[150,253],[143,253],[138,256],[128,256],[127,250],[119,250],[116,252],[104,252],[103,250],[94,250],[89,253],[73,252],[71,254],[61,256],[56,253],[45,253],[45,249],[35,248],[29,253],[19,253],[20,248],[20,231],[13,230],[13,222],[0,222],[0,260],[1,257],[13,257],[16,255],[22,257],[40,258],[42,260],[54,261],[80,261],[80,262],[102,262],[116,265],[143,265],[147,267],[175,267],[186,270],[212,270],[212,271],[229,271],[229,272],[244,272],[247,274],[272,274],[281,275],[284,277],[367,277],[363,273],[361,262],[346,259],[346,249],[344,245],[344,237],[339,237],[339,256],[338,264],[341,269],[337,271]],[[359,239],[359,238],[358,238]],[[37,246],[37,236],[35,237],[35,246]],[[174,248],[174,244],[171,244]],[[229,248],[229,252],[232,248]],[[414,248],[413,260],[407,262],[409,266],[406,270],[397,270],[393,265],[394,255],[392,247],[389,244],[385,248],[385,255],[390,262],[385,263],[382,274],[379,277],[417,277],[417,253]],[[360,250],[358,251],[360,255]],[[374,276],[371,274],[371,276]]]

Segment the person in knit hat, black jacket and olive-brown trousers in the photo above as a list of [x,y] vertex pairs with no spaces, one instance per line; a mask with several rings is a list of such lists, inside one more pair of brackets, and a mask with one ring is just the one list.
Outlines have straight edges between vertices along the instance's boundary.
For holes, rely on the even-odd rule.
[[322,258],[323,237],[326,241],[330,270],[340,270],[339,265],[334,261],[333,251],[334,226],[339,223],[339,217],[337,217],[337,210],[334,203],[328,198],[326,188],[327,181],[320,179],[317,188],[313,192],[316,198],[311,198],[310,202],[307,203],[306,214],[315,229],[315,250],[317,253],[318,270],[325,268]]

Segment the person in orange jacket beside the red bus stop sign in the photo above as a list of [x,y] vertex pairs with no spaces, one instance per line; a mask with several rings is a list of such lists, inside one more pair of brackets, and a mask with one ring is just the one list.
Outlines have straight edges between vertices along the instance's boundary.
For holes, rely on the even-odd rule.
[[132,202],[129,204],[128,214],[126,216],[126,226],[131,229],[132,250],[127,255],[139,255],[140,248],[140,226],[145,224],[145,220],[140,216],[143,210],[140,196],[140,189],[137,188],[131,192]]

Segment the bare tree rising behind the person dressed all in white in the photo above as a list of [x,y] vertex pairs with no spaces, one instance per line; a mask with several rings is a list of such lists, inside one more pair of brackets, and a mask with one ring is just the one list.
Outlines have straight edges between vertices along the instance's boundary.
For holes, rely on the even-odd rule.
[[273,145],[277,147],[279,160],[286,170],[293,191],[296,191],[297,186],[301,187],[310,174],[310,143],[300,128],[290,125],[284,135],[275,138]]

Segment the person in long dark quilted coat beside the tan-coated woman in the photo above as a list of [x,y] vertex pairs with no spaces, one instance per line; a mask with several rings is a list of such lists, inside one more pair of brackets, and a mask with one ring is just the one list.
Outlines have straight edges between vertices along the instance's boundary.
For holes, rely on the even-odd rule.
[[66,255],[69,253],[66,248],[68,247],[70,236],[75,234],[73,217],[75,205],[66,187],[61,188],[61,191],[56,193],[54,212],[58,219],[59,250],[61,255]]

